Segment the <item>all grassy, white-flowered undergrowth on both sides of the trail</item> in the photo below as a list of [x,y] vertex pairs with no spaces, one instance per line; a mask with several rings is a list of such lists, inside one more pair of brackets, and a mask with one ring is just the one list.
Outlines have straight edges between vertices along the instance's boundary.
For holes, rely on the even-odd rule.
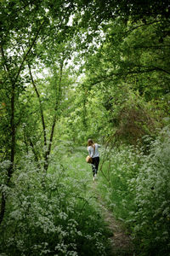
[[[156,140],[144,137],[143,145],[103,145],[96,189],[133,237],[136,255],[168,255],[169,128]],[[85,147],[59,143],[45,174],[30,152],[15,166],[10,186],[3,185],[10,164],[3,161],[1,189],[7,208],[0,230],[1,254],[111,255],[111,232],[92,189],[86,154]]]

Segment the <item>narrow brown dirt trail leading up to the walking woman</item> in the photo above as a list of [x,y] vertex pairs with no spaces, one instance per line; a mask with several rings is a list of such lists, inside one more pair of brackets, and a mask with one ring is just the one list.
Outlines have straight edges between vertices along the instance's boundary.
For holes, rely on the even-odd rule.
[[95,195],[97,195],[97,201],[101,208],[105,223],[108,224],[108,229],[112,234],[109,238],[111,243],[110,256],[135,256],[135,253],[133,253],[131,236],[126,234],[126,230],[124,230],[122,224],[114,218],[112,212],[105,206],[105,202],[97,192],[96,181],[93,183],[93,189],[95,191]]

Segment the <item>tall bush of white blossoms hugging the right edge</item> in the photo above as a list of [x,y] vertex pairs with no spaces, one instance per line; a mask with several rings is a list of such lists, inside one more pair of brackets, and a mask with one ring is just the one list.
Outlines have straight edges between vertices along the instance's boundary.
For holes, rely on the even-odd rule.
[[[170,132],[161,131],[132,181],[136,212],[131,212],[133,234],[146,255],[168,255],[170,250]],[[142,241],[142,242],[141,242]]]

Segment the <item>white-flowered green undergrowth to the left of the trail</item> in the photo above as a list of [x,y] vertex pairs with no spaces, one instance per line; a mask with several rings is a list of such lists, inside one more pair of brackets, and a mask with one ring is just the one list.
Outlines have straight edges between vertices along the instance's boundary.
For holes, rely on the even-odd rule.
[[80,150],[69,159],[68,149],[62,152],[62,161],[54,160],[56,152],[47,175],[37,169],[30,153],[16,166],[12,187],[2,187],[8,191],[8,209],[1,226],[1,253],[107,255],[108,233],[91,192],[91,172],[85,161],[82,166]]

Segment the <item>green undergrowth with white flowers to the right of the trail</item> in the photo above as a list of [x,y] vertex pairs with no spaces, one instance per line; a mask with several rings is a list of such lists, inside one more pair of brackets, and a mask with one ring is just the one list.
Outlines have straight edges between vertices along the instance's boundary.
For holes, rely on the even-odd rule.
[[141,149],[122,147],[109,152],[100,188],[114,214],[132,232],[138,255],[168,255],[169,127],[152,141],[149,154]]

